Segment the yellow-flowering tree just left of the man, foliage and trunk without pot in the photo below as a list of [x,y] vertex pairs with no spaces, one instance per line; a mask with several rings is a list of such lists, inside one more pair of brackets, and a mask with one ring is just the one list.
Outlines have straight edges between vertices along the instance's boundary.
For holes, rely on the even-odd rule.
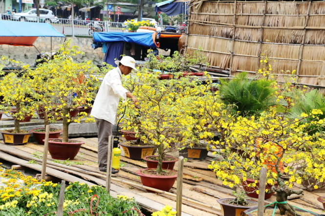
[[[33,73],[37,91],[40,93],[39,104],[47,113],[53,109],[49,116],[52,119],[63,119],[63,142],[68,141],[68,125],[72,122],[80,123],[87,113],[81,112],[77,118],[69,112],[79,106],[91,106],[95,97],[98,82],[95,72],[98,70],[91,61],[76,62],[73,60],[81,51],[77,47],[70,47],[69,41],[61,45],[53,59],[43,63]],[[40,87],[37,87],[37,83]]]

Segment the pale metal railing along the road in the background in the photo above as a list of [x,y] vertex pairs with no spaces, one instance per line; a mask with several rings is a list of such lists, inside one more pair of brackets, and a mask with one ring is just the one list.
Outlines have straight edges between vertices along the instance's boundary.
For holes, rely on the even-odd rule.
[[[71,36],[92,36],[93,32],[123,32],[125,25],[123,22],[96,21],[96,20],[79,20],[79,19],[61,19],[46,17],[27,17],[23,19],[17,15],[0,14],[0,20],[28,21],[28,22],[47,22],[51,24],[58,32]],[[162,29],[172,27],[177,33],[183,33],[186,26],[167,26],[163,25]]]

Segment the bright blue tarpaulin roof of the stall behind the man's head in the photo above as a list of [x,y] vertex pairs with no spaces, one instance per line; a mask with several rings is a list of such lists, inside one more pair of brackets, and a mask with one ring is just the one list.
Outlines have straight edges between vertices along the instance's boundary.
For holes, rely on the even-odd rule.
[[155,34],[147,32],[94,32],[92,37],[95,43],[124,41],[157,48],[154,42]]

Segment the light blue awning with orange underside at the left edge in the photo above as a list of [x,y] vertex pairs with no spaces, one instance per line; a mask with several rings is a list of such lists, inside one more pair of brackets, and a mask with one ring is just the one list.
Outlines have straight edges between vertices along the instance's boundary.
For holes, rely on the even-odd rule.
[[48,23],[0,20],[0,44],[32,46],[38,37],[65,37]]

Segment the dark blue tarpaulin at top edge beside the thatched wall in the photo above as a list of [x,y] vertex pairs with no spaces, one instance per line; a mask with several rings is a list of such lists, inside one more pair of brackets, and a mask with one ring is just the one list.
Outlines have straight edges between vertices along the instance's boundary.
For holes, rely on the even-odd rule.
[[156,3],[155,12],[163,12],[168,16],[175,16],[178,14],[184,14],[184,11],[186,14],[188,14],[188,8],[188,3],[185,1],[167,0]]

